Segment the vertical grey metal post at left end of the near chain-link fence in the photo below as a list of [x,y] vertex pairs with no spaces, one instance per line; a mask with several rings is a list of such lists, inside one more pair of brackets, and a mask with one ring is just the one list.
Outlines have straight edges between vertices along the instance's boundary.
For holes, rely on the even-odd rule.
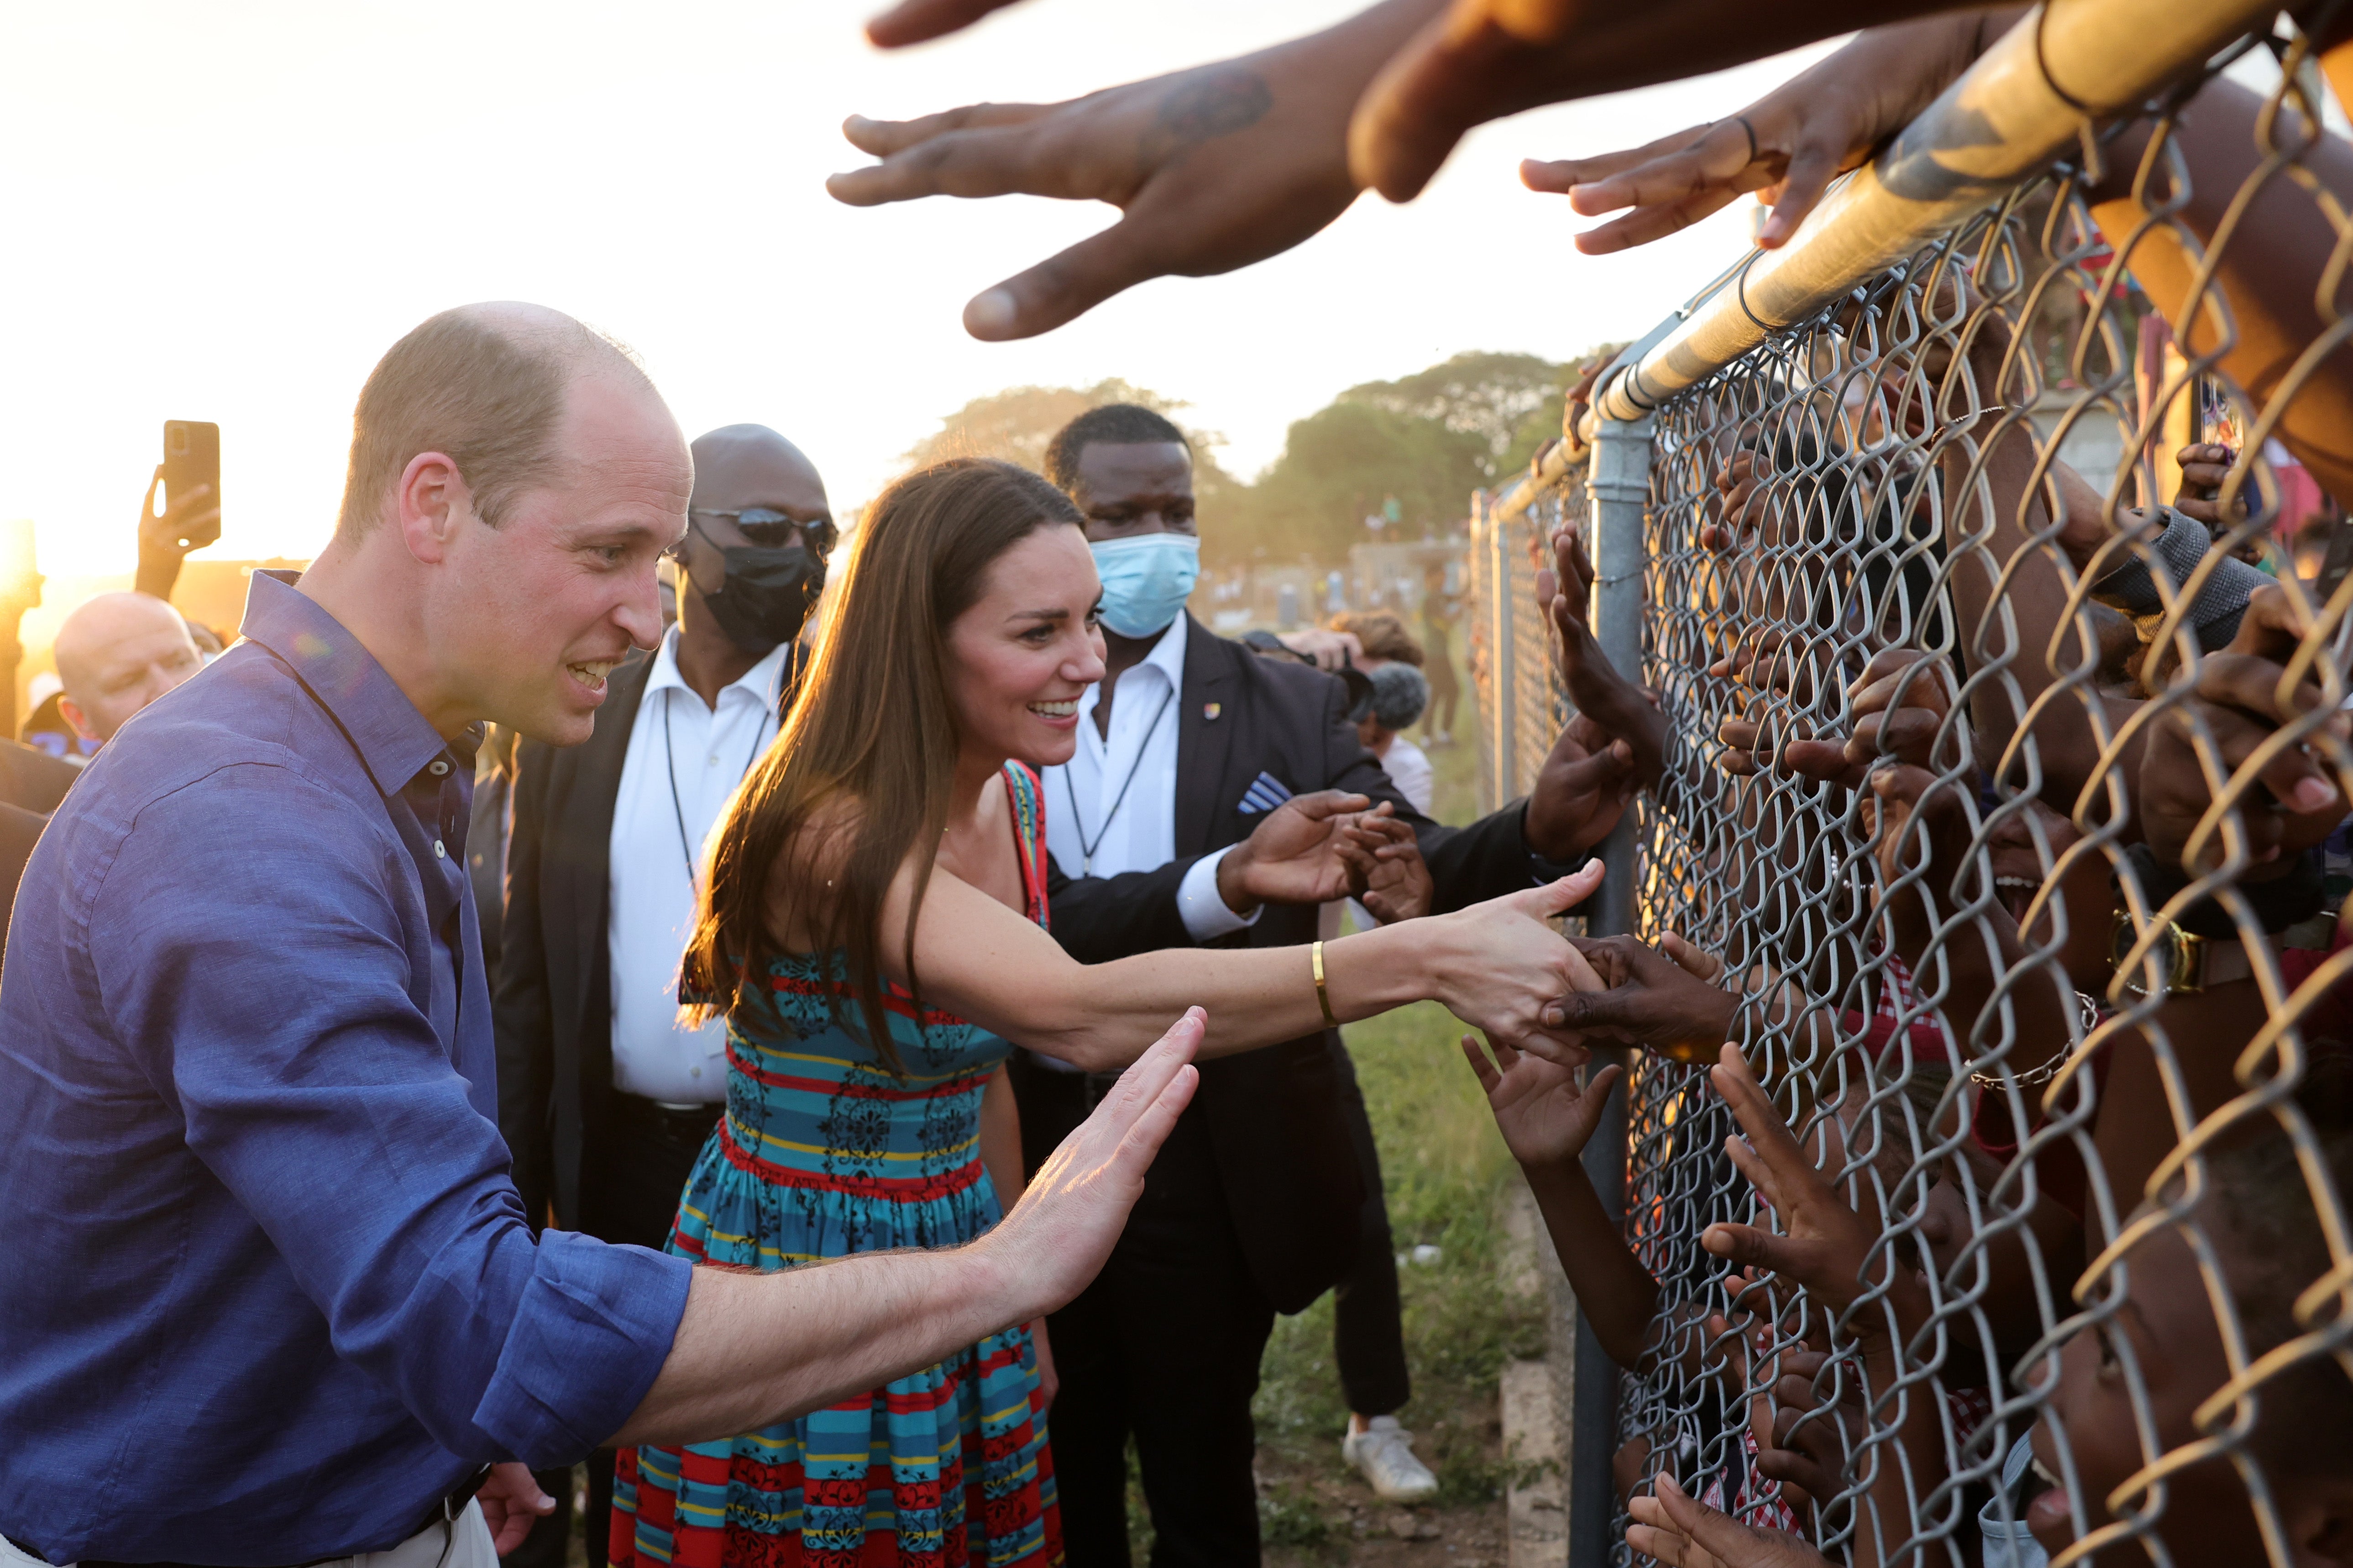
[[[1593,637],[1628,679],[1642,675],[1642,520],[1649,512],[1652,421],[1605,421],[1593,440],[1586,473],[1593,557]],[[1633,818],[1624,818],[1602,844],[1602,891],[1593,936],[1621,936],[1633,917]],[[1586,1178],[1612,1220],[1626,1215],[1626,1091],[1609,1095],[1600,1126],[1584,1152]],[[1609,1455],[1617,1450],[1619,1368],[1602,1352],[1586,1314],[1577,1314],[1577,1399],[1569,1436],[1569,1568],[1605,1568],[1612,1556],[1617,1490]]]

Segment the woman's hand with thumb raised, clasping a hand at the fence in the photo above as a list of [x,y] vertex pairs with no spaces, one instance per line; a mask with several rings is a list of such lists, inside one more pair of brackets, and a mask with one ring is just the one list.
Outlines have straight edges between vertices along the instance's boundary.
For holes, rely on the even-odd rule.
[[1419,922],[1414,950],[1428,966],[1435,999],[1473,1030],[1485,1030],[1487,1039],[1569,1067],[1584,1065],[1584,1044],[1574,1032],[1548,1025],[1546,1011],[1558,1018],[1553,1004],[1560,997],[1600,990],[1600,980],[1546,922],[1567,914],[1600,884],[1602,863],[1588,860],[1581,872],[1541,889]]

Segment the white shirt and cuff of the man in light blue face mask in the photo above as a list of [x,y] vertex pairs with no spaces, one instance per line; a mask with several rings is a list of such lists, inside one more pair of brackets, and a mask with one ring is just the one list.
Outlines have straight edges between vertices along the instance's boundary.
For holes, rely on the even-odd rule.
[[[1160,635],[1141,663],[1120,675],[1111,736],[1094,729],[1101,686],[1078,698],[1078,752],[1045,771],[1045,846],[1066,877],[1153,872],[1176,858],[1176,708],[1184,703],[1186,618]],[[1125,790],[1125,799],[1122,799]],[[1089,853],[1092,849],[1092,853]],[[1176,912],[1195,943],[1257,924],[1226,907],[1217,865],[1202,856],[1176,889]],[[1054,1058],[1038,1058],[1064,1067]]]

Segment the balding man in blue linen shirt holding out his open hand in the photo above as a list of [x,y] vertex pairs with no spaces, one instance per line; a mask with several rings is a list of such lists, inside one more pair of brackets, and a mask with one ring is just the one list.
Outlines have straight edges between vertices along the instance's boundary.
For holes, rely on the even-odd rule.
[[464,870],[473,726],[588,736],[661,632],[689,487],[612,341],[433,317],[360,393],[320,559],[256,576],[247,642],[56,811],[0,983],[0,1563],[487,1566],[546,1507],[527,1465],[816,1408],[1101,1265],[1191,1093],[1191,1016],[976,1246],[755,1276],[534,1244]]

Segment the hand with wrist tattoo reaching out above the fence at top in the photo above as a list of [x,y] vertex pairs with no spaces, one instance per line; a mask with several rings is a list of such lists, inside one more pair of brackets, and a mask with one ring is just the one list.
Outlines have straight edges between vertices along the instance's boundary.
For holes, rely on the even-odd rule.
[[[852,207],[925,195],[1111,202],[1118,223],[965,306],[976,339],[1052,331],[1148,277],[1231,273],[1287,252],[1346,212],[1348,110],[1433,2],[1384,0],[1311,38],[1068,103],[854,115],[842,134],[882,162],[826,188]],[[913,0],[875,21],[878,42],[913,42],[986,9],[986,0]]]

